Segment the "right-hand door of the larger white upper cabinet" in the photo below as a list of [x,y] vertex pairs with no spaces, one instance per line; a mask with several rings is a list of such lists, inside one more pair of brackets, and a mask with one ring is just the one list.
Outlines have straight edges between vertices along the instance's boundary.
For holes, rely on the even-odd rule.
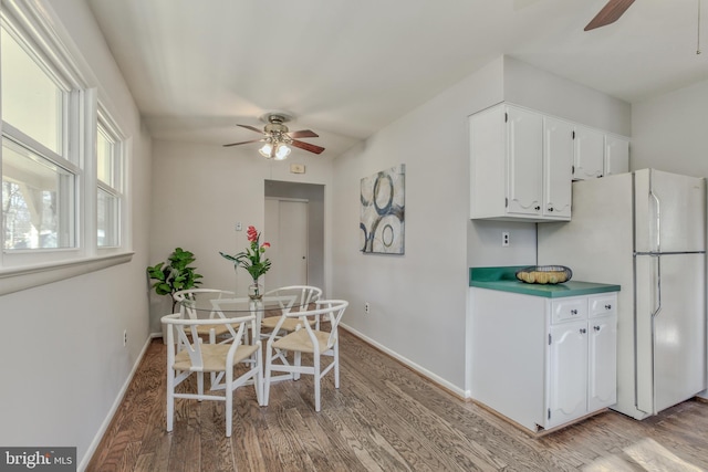
[[573,125],[543,118],[543,216],[571,218]]

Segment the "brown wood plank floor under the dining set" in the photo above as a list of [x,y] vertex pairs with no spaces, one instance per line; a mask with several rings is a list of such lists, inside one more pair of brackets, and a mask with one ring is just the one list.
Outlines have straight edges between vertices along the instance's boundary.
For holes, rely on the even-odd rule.
[[165,431],[165,346],[155,339],[87,471],[708,471],[708,403],[636,421],[610,411],[534,439],[346,332],[341,388],[312,378],[236,391],[225,405],[177,400]]

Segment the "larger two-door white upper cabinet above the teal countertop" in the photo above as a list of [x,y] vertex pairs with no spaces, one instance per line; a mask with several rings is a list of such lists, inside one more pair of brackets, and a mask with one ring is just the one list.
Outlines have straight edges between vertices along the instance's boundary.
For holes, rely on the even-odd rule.
[[470,218],[570,220],[572,128],[500,104],[469,118]]

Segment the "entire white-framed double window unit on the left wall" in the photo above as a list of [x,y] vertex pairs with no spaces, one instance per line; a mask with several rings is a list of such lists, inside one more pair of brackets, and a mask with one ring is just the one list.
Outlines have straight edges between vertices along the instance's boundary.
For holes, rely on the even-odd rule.
[[[129,260],[129,140],[100,105],[100,84],[84,82],[95,75],[71,57],[48,14],[23,0],[0,3],[0,275],[6,281],[8,274],[31,279],[32,271],[61,272],[69,265],[76,274],[76,266],[88,272]],[[3,293],[9,292],[0,287]]]

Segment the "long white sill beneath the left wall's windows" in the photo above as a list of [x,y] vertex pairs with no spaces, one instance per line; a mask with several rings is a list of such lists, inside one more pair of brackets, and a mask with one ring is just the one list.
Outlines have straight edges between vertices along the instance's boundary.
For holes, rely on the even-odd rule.
[[131,262],[134,252],[0,269],[0,296]]

